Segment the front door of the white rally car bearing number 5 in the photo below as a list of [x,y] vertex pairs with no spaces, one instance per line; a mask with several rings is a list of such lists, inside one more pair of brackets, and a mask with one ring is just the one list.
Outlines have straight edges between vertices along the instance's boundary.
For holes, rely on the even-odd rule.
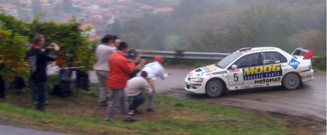
[[251,85],[252,83],[250,83],[249,80],[253,79],[253,77],[249,76],[251,73],[254,73],[255,67],[260,65],[259,60],[260,53],[246,54],[236,60],[232,65],[236,65],[237,68],[231,69],[231,67],[229,67],[227,71],[228,85],[236,87],[236,89],[247,88],[247,85]]

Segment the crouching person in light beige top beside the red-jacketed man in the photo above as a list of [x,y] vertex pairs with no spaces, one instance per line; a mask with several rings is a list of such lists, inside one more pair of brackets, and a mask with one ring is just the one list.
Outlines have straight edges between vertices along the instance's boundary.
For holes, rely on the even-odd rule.
[[148,93],[150,95],[149,97],[153,96],[147,80],[147,73],[145,71],[141,72],[140,77],[134,77],[128,80],[125,91],[129,101],[130,115],[133,115],[134,113],[142,113],[137,109],[137,107],[142,105],[145,101],[145,97],[142,95],[143,93]]

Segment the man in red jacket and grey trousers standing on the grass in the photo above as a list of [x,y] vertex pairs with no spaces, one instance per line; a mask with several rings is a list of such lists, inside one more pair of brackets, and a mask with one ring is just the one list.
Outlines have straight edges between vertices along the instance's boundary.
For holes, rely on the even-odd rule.
[[120,42],[117,51],[109,56],[110,73],[107,88],[112,90],[112,94],[111,101],[107,108],[107,121],[113,120],[118,103],[121,105],[125,122],[133,122],[136,120],[128,114],[128,98],[124,91],[129,75],[135,70],[135,63],[128,61],[127,57],[124,55],[127,46],[127,43]]

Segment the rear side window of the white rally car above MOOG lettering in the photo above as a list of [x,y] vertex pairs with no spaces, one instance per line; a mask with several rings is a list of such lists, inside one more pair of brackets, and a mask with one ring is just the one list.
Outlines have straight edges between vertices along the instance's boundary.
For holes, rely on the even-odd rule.
[[261,63],[263,65],[287,62],[286,57],[284,57],[279,52],[262,52],[261,54]]

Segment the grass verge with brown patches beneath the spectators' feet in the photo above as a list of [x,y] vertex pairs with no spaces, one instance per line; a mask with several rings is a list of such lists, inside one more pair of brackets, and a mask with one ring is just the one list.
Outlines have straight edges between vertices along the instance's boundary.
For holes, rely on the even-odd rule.
[[[0,123],[37,130],[69,134],[291,134],[287,122],[239,108],[201,103],[156,95],[155,111],[134,116],[134,123],[121,120],[117,109],[115,120],[104,120],[106,107],[95,105],[92,92],[78,96],[50,96],[46,113],[33,109],[28,94],[9,94],[0,103]],[[145,106],[140,107],[145,108]]]

